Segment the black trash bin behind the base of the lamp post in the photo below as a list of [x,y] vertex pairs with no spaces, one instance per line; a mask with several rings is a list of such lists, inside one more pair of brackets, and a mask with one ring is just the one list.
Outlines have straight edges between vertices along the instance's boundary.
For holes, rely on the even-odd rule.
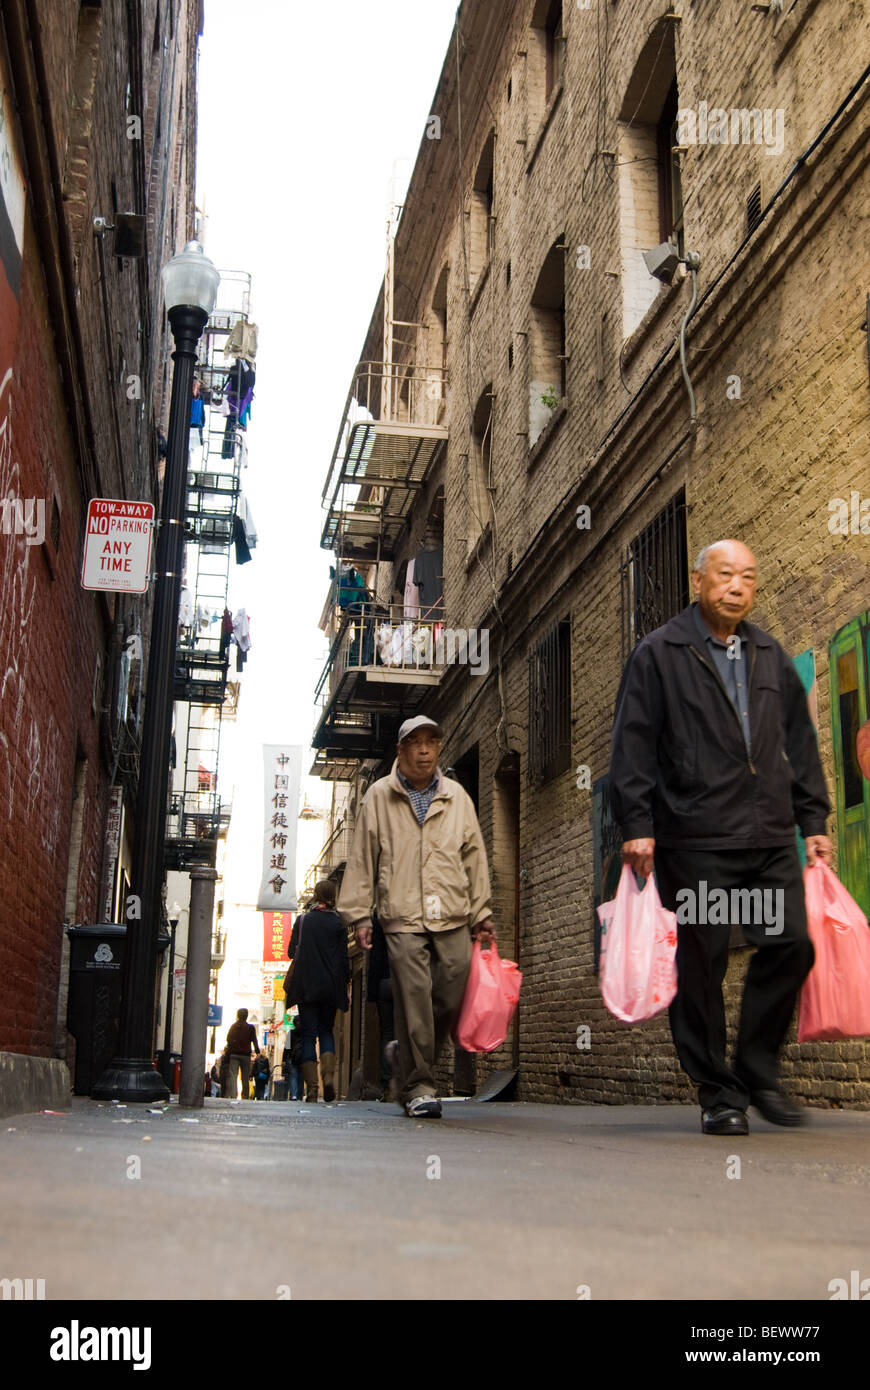
[[[67,1027],[75,1038],[72,1091],[90,1095],[92,1088],[118,1051],[121,1019],[121,967],[126,926],[117,922],[67,927],[69,937],[69,999]],[[157,940],[158,952],[170,944]],[[157,962],[154,962],[154,984]]]

